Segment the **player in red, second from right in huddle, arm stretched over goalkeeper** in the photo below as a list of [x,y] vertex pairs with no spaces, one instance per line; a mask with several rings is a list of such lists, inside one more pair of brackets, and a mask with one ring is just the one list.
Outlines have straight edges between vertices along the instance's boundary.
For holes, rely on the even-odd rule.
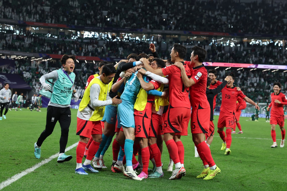
[[[171,62],[181,62],[185,74],[190,76],[189,67],[184,64],[183,58],[186,55],[186,48],[180,44],[173,44],[171,50]],[[154,70],[148,64],[144,63],[147,71],[159,76],[169,78],[169,108],[164,119],[164,141],[171,156],[175,170],[169,178],[179,179],[185,175],[184,168],[184,147],[181,142],[181,135],[187,135],[187,126],[190,119],[190,103],[188,99],[189,87],[185,87],[181,79],[181,70],[176,66],[166,66],[165,68]]]

